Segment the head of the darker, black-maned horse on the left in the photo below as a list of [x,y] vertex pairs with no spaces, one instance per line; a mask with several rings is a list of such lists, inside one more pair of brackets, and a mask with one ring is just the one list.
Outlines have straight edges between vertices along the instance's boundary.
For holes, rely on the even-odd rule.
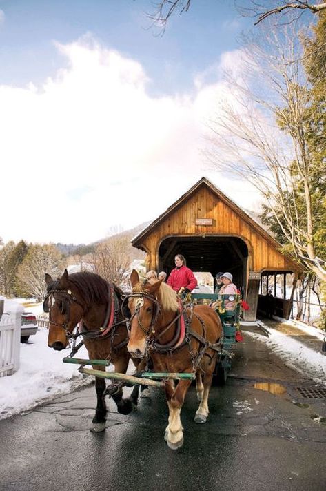
[[58,280],[52,280],[46,274],[45,282],[48,288],[43,310],[49,313],[48,346],[61,351],[67,347],[72,331],[83,315],[81,298],[66,269]]

